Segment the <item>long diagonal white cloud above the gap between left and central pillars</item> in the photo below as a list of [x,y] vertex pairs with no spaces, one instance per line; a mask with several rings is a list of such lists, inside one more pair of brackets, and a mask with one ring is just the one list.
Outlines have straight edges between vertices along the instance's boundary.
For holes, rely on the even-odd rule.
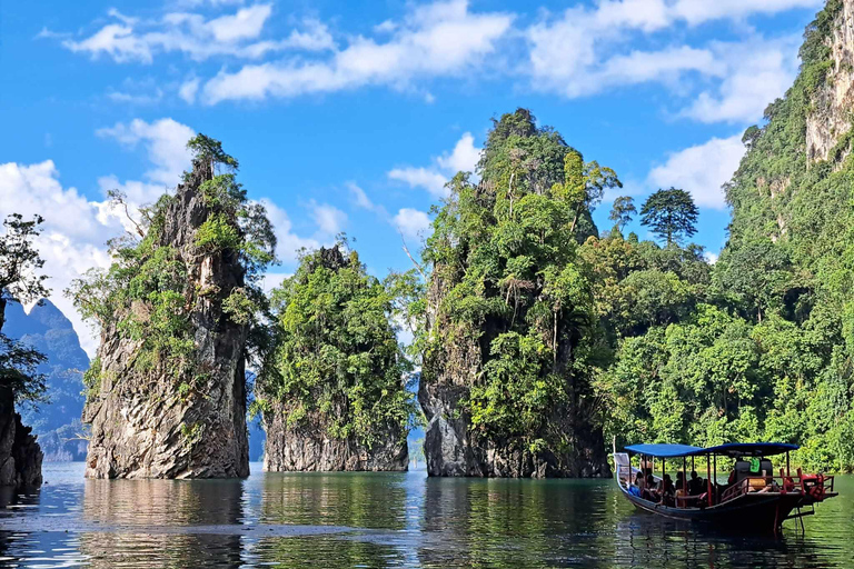
[[327,59],[286,59],[220,71],[205,84],[205,99],[212,104],[366,84],[401,88],[415,78],[458,76],[484,63],[512,22],[513,16],[506,13],[471,13],[466,0],[435,2],[414,9],[388,41],[358,36]]

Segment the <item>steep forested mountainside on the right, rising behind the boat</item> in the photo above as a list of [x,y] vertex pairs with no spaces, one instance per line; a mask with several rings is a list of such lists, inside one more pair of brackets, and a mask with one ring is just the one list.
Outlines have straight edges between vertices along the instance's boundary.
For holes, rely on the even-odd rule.
[[615,327],[602,387],[622,441],[781,440],[802,445],[794,460],[811,470],[854,470],[854,1],[827,2],[801,58],[744,134],[711,281],[677,271],[656,295],[675,301],[667,320]]

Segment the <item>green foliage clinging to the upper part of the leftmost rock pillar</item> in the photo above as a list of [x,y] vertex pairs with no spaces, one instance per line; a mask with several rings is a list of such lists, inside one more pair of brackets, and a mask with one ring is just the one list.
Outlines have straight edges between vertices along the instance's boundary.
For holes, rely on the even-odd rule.
[[[250,202],[236,181],[238,162],[219,141],[203,134],[191,139],[192,170],[183,183],[201,196],[207,218],[195,231],[188,250],[179,251],[166,234],[167,212],[175,196],[166,193],[140,209],[141,219],[128,216],[136,232],[110,242],[109,269],[91,269],[67,291],[81,316],[101,330],[139,341],[132,367],[139,372],[165,371],[188,390],[201,372],[195,368],[196,346],[190,315],[203,298],[224,296],[222,310],[240,326],[257,322],[266,306],[257,286],[264,269],[275,261],[276,238],[264,207]],[[125,212],[125,197],[112,192]],[[200,288],[188,272],[188,259],[237,257],[244,287],[230,291]],[[251,346],[249,347],[251,348]],[[98,395],[100,359],[85,375],[87,396]]]

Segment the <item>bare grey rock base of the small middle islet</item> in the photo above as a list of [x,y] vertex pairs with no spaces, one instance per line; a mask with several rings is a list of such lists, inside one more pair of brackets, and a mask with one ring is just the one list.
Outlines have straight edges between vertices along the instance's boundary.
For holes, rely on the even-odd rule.
[[380,437],[370,449],[354,440],[332,439],[326,428],[288,429],[285,413],[269,413],[264,469],[269,472],[405,471],[406,441],[399,433]]

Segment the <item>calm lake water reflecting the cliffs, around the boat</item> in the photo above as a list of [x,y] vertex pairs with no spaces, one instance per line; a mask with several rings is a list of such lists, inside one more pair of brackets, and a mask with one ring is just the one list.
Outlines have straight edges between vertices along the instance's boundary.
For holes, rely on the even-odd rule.
[[409,473],[47,485],[0,510],[3,567],[854,566],[854,478],[784,536],[719,535],[636,512],[612,480],[428,479]]

